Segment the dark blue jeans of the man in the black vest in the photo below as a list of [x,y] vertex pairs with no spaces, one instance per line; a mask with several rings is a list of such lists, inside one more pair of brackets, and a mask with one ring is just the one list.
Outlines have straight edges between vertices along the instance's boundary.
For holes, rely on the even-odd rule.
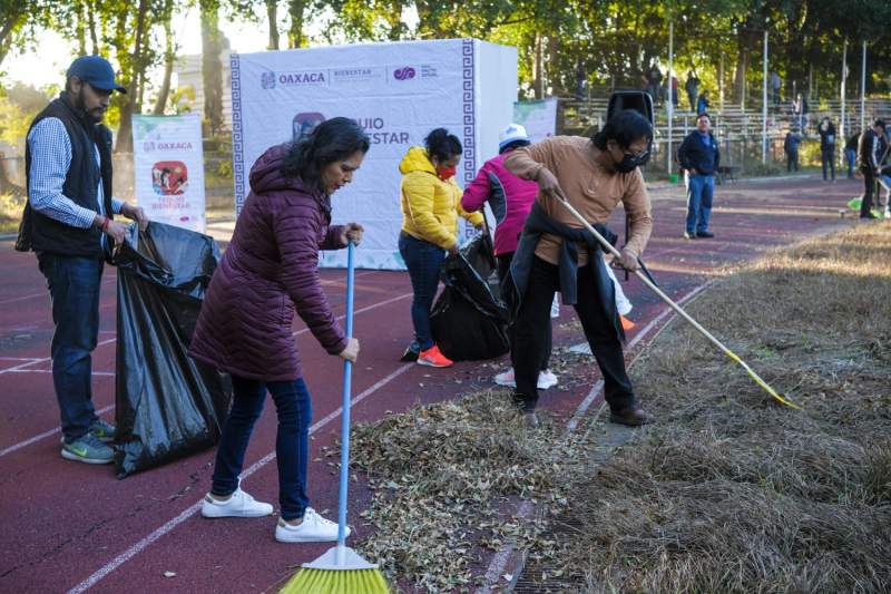
[[69,444],[97,420],[92,406],[92,358],[99,337],[99,286],[102,261],[42,253],[40,272],[52,300],[52,384],[59,401],[62,435]]

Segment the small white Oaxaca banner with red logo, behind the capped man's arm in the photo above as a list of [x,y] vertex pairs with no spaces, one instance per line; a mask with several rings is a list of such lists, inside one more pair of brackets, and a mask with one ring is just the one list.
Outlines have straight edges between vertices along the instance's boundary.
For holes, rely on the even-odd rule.
[[150,221],[205,232],[197,114],[133,117],[134,192]]

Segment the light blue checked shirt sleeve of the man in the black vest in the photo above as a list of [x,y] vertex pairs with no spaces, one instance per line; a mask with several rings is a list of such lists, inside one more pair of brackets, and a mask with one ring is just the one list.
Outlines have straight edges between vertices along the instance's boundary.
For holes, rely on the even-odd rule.
[[45,118],[28,135],[31,150],[28,201],[31,208],[72,227],[88,228],[96,211],[76,204],[62,194],[71,165],[71,140],[58,118]]

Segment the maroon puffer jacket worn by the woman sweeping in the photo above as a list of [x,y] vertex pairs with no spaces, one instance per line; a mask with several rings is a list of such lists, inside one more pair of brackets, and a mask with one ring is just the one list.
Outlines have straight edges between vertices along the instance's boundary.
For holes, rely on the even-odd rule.
[[331,202],[280,173],[274,146],[251,169],[251,194],[202,305],[189,354],[243,378],[303,377],[291,333],[294,308],[331,354],[346,347],[319,277],[319,250],[345,247]]

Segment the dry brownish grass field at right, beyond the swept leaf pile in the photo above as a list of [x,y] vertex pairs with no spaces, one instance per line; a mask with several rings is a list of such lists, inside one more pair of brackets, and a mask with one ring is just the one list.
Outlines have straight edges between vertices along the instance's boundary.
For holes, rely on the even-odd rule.
[[861,225],[731,276],[691,313],[796,412],[679,323],[633,370],[660,422],[574,498],[568,590],[887,592],[891,227]]

